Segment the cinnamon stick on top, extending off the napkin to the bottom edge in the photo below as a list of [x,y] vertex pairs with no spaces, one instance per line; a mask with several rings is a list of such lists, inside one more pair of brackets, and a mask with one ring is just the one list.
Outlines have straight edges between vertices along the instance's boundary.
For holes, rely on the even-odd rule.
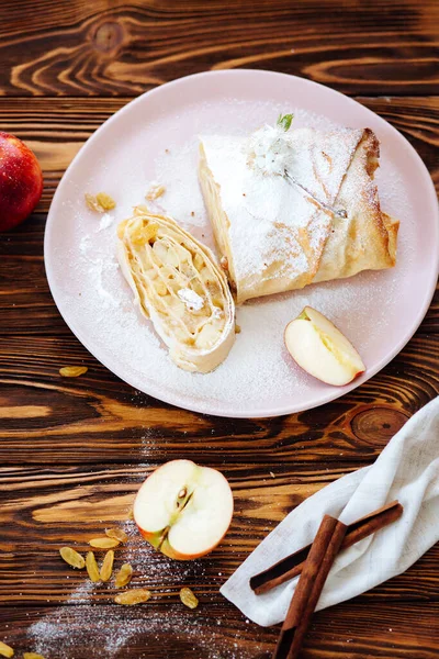
[[295,588],[273,659],[296,659],[347,526],[325,515]]

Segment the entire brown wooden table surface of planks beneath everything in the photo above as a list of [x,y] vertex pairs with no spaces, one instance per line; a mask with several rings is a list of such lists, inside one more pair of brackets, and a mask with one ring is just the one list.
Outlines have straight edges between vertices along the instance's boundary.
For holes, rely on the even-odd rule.
[[[295,505],[370,465],[438,393],[439,304],[379,375],[338,401],[272,420],[215,418],[121,382],[75,338],[48,290],[46,213],[64,170],[132,98],[180,76],[251,67],[357,99],[399,130],[439,186],[437,0],[2,0],[0,129],[35,150],[36,212],[0,237],[0,639],[46,659],[269,656],[277,628],[218,588]],[[86,365],[86,376],[58,369]],[[58,557],[123,524],[156,465],[190,458],[229,479],[236,512],[209,557],[178,563],[133,534],[124,549],[156,597],[113,604]],[[271,476],[271,472],[273,477]],[[132,522],[125,522],[131,528]],[[439,546],[405,574],[315,616],[308,659],[439,657]],[[200,596],[196,611],[178,599]]]

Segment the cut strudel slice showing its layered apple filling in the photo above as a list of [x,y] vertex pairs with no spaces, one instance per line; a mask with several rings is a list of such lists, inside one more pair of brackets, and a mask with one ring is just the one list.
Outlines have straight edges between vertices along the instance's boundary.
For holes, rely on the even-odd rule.
[[209,372],[235,340],[235,306],[210,249],[171,217],[136,210],[117,227],[117,256],[139,311],[177,366]]

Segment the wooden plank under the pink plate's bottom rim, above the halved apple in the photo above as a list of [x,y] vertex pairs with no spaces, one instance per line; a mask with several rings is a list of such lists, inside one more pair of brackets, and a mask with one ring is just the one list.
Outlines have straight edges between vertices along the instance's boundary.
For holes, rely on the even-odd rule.
[[[340,401],[256,421],[199,415],[133,392],[74,337],[10,338],[2,353],[3,465],[15,465],[20,454],[24,463],[99,463],[103,456],[158,462],[184,455],[271,465],[267,472],[274,465],[360,467],[439,391],[437,334],[417,335],[392,364]],[[63,379],[57,371],[66,364],[86,364],[89,372]]]

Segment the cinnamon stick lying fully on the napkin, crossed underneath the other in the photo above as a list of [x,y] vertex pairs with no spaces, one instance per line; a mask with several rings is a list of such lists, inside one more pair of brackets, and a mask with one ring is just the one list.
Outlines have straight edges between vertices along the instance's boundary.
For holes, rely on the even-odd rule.
[[[348,549],[356,543],[372,535],[376,530],[384,528],[392,522],[395,522],[403,514],[403,506],[397,501],[392,501],[383,507],[349,524],[345,539],[341,544],[340,551]],[[311,545],[299,549],[294,554],[286,556],[275,565],[271,566],[263,572],[255,574],[250,579],[250,588],[257,595],[266,593],[281,583],[285,583],[290,579],[297,577],[302,572],[304,562],[309,554]]]

